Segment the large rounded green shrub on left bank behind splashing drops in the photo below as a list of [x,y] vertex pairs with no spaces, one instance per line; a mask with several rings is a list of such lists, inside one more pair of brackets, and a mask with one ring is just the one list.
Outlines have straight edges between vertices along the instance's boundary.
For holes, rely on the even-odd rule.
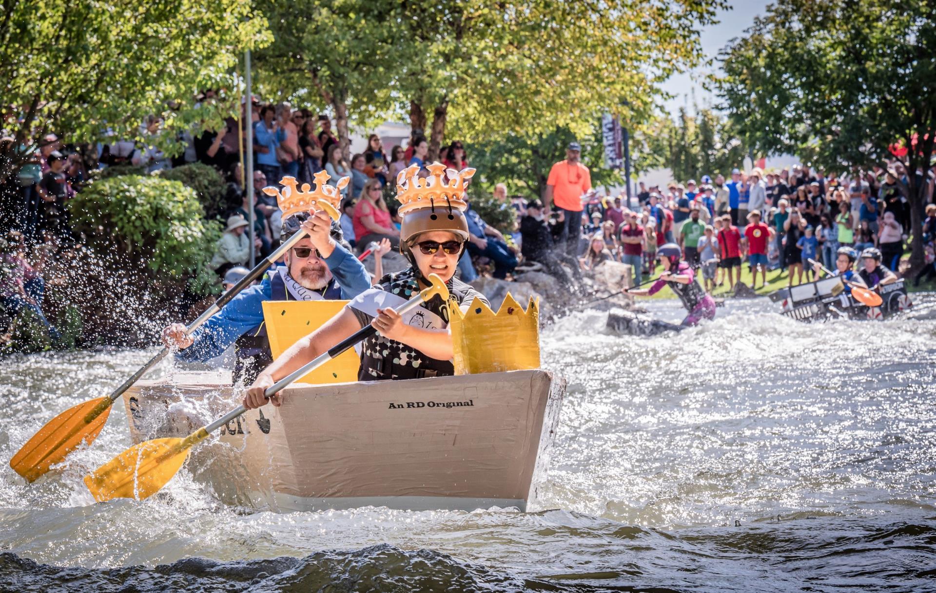
[[187,301],[212,293],[208,264],[221,226],[202,219],[180,181],[122,176],[95,181],[68,202],[85,245],[66,254],[68,300],[97,340],[146,343]]

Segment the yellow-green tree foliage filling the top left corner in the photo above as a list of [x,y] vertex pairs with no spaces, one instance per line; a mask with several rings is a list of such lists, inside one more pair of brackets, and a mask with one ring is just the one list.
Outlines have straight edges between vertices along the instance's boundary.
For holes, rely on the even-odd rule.
[[[230,86],[240,52],[267,38],[266,22],[241,0],[2,3],[0,122],[14,137],[4,177],[29,158],[16,147],[41,146],[49,132],[76,143],[103,139],[108,128],[138,137],[152,113],[169,130],[220,122],[220,104],[194,108],[197,91]],[[173,140],[160,137],[168,149]]]

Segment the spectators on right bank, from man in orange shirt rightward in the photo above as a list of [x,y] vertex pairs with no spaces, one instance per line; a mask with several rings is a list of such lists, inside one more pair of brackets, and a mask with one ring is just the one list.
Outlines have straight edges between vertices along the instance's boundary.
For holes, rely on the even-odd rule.
[[[651,272],[655,252],[678,243],[684,259],[701,270],[709,290],[740,281],[743,265],[753,272],[752,288],[768,283],[768,270],[788,274],[787,284],[810,282],[808,260],[835,268],[836,251],[876,247],[883,263],[899,272],[910,234],[906,172],[899,162],[870,171],[826,176],[822,169],[796,165],[765,172],[731,171],[701,182],[672,181],[660,187],[640,182],[636,206],[626,198],[591,189],[587,167],[578,163],[578,145],[553,167],[547,198],[566,185],[574,189],[555,199],[547,210],[552,234],[566,241],[566,253],[583,268],[611,259],[629,264],[636,283]],[[928,200],[933,196],[936,167],[929,171]],[[579,194],[576,197],[576,194]],[[580,202],[580,209],[578,203]],[[538,205],[537,205],[538,207]],[[535,210],[534,212],[538,212]],[[936,205],[929,203],[923,225],[928,271],[932,269]]]

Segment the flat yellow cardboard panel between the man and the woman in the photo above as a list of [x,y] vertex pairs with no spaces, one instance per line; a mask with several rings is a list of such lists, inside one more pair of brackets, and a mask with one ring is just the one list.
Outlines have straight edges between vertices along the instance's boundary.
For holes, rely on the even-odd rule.
[[[304,338],[341,311],[346,300],[268,300],[263,302],[263,318],[273,358]],[[329,345],[330,347],[330,345]],[[354,349],[302,377],[300,383],[324,384],[358,381],[360,358]]]

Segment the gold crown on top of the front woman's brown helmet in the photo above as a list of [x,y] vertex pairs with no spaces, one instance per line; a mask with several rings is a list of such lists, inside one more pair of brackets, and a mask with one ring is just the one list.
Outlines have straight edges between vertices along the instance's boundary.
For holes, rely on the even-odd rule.
[[[465,181],[475,175],[475,169],[467,167],[456,171],[446,169],[442,163],[426,166],[429,177],[420,178],[418,165],[410,165],[397,174],[397,200],[400,201],[400,216],[423,208],[453,208],[468,210],[464,201]],[[447,181],[446,181],[447,178]]]

